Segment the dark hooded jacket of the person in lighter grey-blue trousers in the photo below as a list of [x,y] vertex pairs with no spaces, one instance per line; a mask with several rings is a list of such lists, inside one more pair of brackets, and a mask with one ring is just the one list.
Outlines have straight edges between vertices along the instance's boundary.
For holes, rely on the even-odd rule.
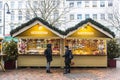
[[45,50],[44,55],[46,56],[47,62],[51,62],[52,61],[51,44],[47,45],[47,49]]

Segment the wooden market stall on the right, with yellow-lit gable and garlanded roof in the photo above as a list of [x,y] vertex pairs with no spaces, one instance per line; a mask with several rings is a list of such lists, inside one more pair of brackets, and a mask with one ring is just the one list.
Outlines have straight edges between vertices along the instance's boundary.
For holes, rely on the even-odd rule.
[[114,33],[100,23],[86,19],[68,29],[65,45],[74,54],[74,67],[107,67],[107,40]]

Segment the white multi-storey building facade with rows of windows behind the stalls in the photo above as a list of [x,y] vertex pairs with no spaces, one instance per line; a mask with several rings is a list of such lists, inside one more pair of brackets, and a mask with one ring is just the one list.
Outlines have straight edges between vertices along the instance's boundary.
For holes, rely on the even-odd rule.
[[[35,11],[31,9],[29,4],[32,4],[35,10],[36,7],[39,7],[36,4],[39,3],[39,5],[42,5],[44,1],[31,1],[32,2],[30,2],[30,0],[0,0],[0,36],[3,36],[4,23],[5,35],[9,35],[12,29],[36,16]],[[9,5],[10,14],[6,13],[8,7],[5,5],[6,3]],[[57,3],[59,3],[58,11],[56,10],[56,12],[53,13],[51,19],[58,18],[58,15],[67,9],[66,13],[64,13],[60,19],[61,22],[63,22],[62,25],[57,25],[59,28],[66,29],[86,18],[92,18],[113,30],[116,37],[120,37],[120,31],[114,28],[108,21],[113,19],[113,10],[120,11],[119,0],[60,0],[60,2]],[[42,16],[39,13],[38,15]]]

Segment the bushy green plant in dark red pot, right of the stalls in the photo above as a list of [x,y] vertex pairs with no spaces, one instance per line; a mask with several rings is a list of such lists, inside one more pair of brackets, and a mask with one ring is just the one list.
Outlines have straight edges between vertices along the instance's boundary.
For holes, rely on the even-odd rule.
[[120,46],[115,39],[107,42],[108,67],[116,67],[116,60],[120,56]]

